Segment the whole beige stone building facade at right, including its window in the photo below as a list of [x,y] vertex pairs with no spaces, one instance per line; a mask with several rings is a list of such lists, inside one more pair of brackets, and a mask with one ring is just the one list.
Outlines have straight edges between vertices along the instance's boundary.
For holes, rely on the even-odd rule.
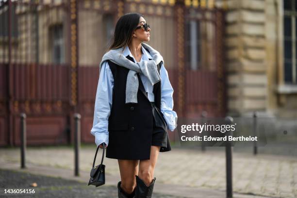
[[224,0],[228,112],[297,117],[295,0]]

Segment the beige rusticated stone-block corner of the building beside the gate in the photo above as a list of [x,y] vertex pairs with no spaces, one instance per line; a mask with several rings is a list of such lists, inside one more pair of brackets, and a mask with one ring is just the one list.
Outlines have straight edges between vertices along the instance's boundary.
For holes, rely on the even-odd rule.
[[228,0],[226,10],[229,114],[267,109],[265,0]]

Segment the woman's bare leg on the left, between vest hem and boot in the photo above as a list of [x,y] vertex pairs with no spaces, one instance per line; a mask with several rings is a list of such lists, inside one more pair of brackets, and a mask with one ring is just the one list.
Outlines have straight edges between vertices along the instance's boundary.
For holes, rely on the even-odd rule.
[[121,188],[131,194],[136,187],[135,175],[138,174],[139,160],[117,160],[121,175]]

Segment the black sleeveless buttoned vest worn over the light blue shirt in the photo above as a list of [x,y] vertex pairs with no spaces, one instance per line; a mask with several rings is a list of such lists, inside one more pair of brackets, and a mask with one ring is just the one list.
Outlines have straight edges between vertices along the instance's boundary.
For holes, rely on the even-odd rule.
[[[133,58],[126,56],[129,60]],[[133,61],[134,62],[134,61]],[[108,120],[109,144],[106,157],[113,159],[148,160],[152,140],[152,106],[139,74],[137,103],[126,104],[126,82],[130,69],[108,61],[114,77],[113,102]],[[158,64],[160,74],[161,63]],[[161,81],[153,86],[155,105],[161,108]],[[169,141],[168,134],[167,140]],[[166,151],[166,148],[160,148]]]

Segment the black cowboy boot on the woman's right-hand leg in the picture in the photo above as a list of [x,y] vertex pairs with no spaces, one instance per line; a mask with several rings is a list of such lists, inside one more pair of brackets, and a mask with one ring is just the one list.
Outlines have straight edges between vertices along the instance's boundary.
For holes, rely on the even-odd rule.
[[143,180],[141,180],[137,175],[136,177],[136,191],[135,198],[152,198],[152,191],[154,188],[154,183],[156,178],[147,186]]

